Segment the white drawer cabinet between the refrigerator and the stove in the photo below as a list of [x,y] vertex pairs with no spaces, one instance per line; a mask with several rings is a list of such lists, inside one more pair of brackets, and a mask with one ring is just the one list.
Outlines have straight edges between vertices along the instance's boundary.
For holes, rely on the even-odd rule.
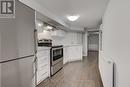
[[37,53],[37,85],[50,77],[50,48],[39,48]]

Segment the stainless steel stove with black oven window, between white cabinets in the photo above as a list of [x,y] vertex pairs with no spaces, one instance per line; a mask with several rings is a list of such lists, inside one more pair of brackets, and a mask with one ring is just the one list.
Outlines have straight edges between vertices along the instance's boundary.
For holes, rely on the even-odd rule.
[[63,46],[52,46],[51,48],[51,76],[63,67]]

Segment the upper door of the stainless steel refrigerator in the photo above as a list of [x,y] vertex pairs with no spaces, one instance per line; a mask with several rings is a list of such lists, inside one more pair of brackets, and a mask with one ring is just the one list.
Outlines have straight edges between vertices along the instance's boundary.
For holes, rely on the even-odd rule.
[[34,10],[16,0],[15,18],[1,18],[0,27],[0,61],[34,54]]

